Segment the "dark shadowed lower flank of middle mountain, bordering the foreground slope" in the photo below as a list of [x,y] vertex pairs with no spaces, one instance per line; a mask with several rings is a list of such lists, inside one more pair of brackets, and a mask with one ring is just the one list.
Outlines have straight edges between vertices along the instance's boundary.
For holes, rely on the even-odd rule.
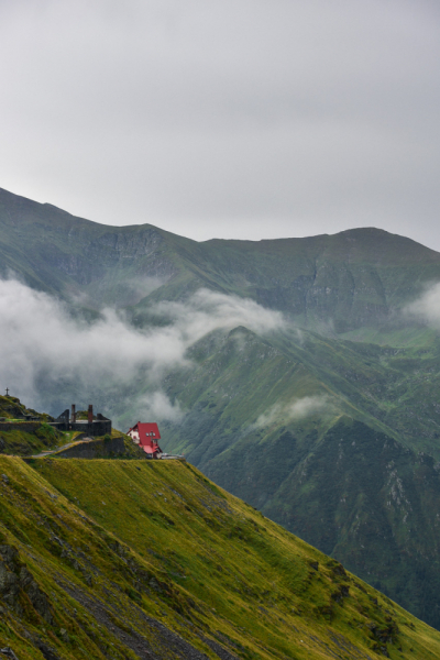
[[286,431],[257,448],[241,442],[205,472],[440,626],[440,479],[430,457],[342,418],[319,440]]

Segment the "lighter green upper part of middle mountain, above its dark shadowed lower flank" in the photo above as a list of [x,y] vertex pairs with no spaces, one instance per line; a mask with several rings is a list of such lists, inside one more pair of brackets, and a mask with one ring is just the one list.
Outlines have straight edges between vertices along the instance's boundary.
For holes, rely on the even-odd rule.
[[[167,427],[167,437],[173,448],[195,452],[188,455],[197,464],[248,436],[258,417],[273,409],[273,419],[258,433],[280,431],[285,408],[310,396],[327,399],[319,410],[323,429],[329,418],[346,414],[440,459],[438,338],[429,345],[394,349],[295,329],[261,338],[235,328],[205,337],[188,358],[190,370],[164,378],[170,398],[188,410],[183,422]],[[122,415],[121,421],[128,424],[130,407],[123,409],[127,420]],[[295,419],[289,422],[298,426]]]

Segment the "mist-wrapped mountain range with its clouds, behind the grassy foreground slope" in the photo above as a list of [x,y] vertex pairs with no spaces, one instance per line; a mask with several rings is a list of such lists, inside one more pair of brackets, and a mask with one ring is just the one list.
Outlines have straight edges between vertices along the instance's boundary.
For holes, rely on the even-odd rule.
[[165,450],[440,627],[439,253],[374,228],[197,243],[1,190],[0,272],[4,387],[154,416]]

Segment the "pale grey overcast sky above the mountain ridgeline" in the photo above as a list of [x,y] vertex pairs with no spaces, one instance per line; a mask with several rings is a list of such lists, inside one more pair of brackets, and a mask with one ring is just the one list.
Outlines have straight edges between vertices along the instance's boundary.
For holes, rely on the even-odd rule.
[[438,0],[0,0],[0,187],[197,240],[440,250]]

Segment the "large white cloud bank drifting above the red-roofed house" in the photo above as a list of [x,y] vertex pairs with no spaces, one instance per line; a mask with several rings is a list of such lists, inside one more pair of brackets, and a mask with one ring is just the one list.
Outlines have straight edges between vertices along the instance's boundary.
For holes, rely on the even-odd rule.
[[185,302],[161,302],[154,312],[165,317],[165,327],[134,328],[110,308],[88,323],[73,318],[66,305],[45,293],[16,279],[0,280],[2,386],[35,408],[47,403],[41,383],[61,395],[74,384],[84,396],[118,383],[157,387],[145,395],[145,409],[177,419],[182,411],[161,391],[160,381],[166,370],[190,365],[186,353],[193,343],[216,329],[242,324],[264,333],[284,324],[279,312],[252,300],[204,289]]

